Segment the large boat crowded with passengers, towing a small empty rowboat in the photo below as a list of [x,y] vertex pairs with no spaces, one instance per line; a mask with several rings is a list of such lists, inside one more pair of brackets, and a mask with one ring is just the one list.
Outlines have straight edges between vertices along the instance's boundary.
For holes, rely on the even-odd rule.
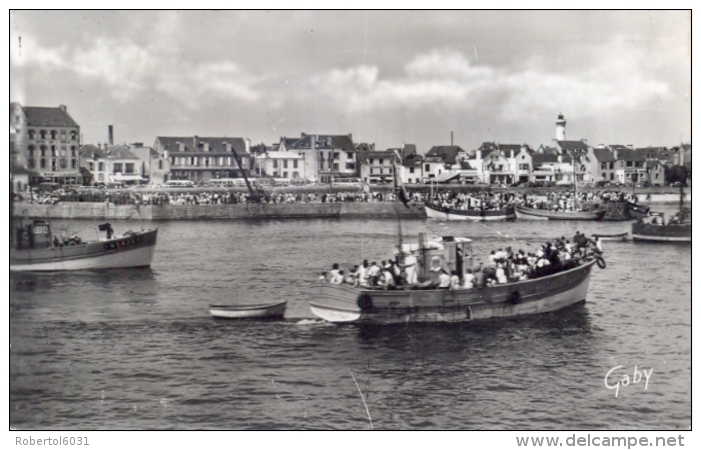
[[312,313],[328,322],[456,322],[556,311],[586,300],[600,247],[579,232],[535,253],[493,252],[473,266],[471,240],[419,235],[384,267],[364,261],[349,276],[334,265],[312,289]]

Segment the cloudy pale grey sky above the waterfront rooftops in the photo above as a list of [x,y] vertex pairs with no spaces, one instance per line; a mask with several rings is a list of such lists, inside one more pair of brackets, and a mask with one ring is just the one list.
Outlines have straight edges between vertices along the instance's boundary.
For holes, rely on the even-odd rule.
[[691,141],[685,11],[12,11],[10,101],[85,144]]

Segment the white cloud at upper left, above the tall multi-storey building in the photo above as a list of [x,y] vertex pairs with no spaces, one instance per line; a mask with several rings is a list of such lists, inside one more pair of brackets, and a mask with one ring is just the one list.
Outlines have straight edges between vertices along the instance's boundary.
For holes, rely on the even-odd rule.
[[[155,33],[162,35],[163,28]],[[149,41],[149,39],[142,40]],[[121,37],[99,37],[72,47],[48,48],[25,35],[22,52],[11,52],[11,66],[42,77],[74,77],[100,84],[115,101],[129,103],[153,91],[186,109],[197,110],[213,100],[255,102],[264,78],[247,74],[233,62],[183,61],[175,43],[155,39],[153,47]]]

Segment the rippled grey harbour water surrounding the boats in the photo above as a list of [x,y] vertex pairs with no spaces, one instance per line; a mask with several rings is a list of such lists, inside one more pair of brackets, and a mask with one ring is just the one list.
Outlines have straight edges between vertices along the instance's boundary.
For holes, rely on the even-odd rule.
[[[659,209],[659,208],[658,208]],[[55,222],[84,237],[84,221]],[[156,224],[144,223],[144,226]],[[378,220],[158,223],[151,269],[10,277],[18,429],[675,430],[691,426],[691,247],[606,242],[587,303],[471,324],[319,322],[305,292],[334,262],[387,258]],[[486,256],[629,223],[405,221]],[[141,228],[118,222],[115,231]],[[209,303],[288,299],[278,322]],[[608,389],[627,374],[639,383]],[[652,374],[647,379],[643,370]],[[355,381],[354,381],[355,378]],[[357,381],[357,386],[356,386]],[[635,380],[637,381],[637,379]]]

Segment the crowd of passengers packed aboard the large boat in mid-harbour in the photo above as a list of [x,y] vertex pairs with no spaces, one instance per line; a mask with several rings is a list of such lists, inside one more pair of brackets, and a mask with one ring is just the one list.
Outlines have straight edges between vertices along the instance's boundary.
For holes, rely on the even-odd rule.
[[418,282],[418,261],[408,255],[403,264],[396,257],[380,264],[376,261],[369,263],[366,259],[347,273],[338,264],[333,264],[329,272],[320,275],[319,281],[373,289],[474,289],[553,275],[602,255],[600,238],[588,238],[577,231],[571,240],[563,236],[546,242],[534,252],[514,251],[511,247],[492,250],[485,265],[480,262],[474,269],[467,269],[462,278],[456,271],[448,273],[441,264],[432,261],[430,279]]

